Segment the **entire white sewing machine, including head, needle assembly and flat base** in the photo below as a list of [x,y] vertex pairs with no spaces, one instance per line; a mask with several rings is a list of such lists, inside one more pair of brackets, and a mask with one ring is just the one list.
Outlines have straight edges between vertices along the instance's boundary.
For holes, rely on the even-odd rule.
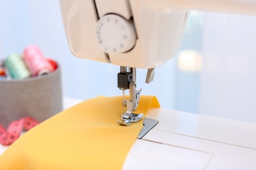
[[[256,14],[250,0],[60,0],[62,20],[74,56],[120,66],[121,126],[140,121],[136,68],[154,68],[175,56],[189,10]],[[152,109],[158,120],[131,148],[124,169],[253,169],[256,125],[184,112]]]

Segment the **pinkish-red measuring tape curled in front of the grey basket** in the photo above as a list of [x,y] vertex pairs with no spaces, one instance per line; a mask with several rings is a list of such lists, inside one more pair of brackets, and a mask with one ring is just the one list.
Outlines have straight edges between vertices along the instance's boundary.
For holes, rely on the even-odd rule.
[[20,137],[20,133],[23,130],[28,131],[38,124],[40,123],[37,120],[34,120],[31,117],[26,117],[11,122],[7,130],[0,125],[0,143],[3,145],[11,145]]

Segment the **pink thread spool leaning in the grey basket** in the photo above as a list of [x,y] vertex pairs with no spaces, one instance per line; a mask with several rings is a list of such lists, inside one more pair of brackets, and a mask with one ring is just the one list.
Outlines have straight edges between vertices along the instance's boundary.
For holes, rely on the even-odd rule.
[[41,50],[35,45],[30,45],[25,48],[23,58],[28,65],[32,76],[46,75],[53,71],[53,67],[49,61],[47,61]]

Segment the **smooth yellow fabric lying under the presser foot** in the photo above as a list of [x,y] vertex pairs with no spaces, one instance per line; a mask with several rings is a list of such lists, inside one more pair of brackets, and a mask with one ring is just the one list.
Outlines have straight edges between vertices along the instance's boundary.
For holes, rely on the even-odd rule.
[[[121,169],[142,121],[119,126],[122,96],[96,97],[26,132],[0,156],[0,169]],[[141,96],[137,113],[160,107]]]

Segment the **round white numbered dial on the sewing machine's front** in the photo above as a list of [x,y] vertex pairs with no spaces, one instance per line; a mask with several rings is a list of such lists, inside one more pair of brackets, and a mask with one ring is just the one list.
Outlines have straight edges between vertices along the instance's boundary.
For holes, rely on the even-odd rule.
[[117,54],[131,50],[135,46],[137,35],[132,20],[108,14],[96,24],[96,39],[104,52]]

